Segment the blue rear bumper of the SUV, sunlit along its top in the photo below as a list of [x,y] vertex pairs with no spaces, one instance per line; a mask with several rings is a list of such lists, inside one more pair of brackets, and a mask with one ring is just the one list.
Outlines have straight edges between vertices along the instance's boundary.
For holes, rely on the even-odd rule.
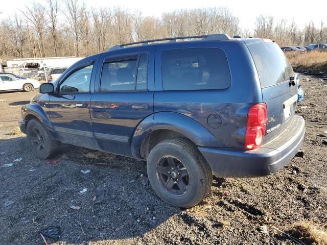
[[[299,151],[305,136],[305,121],[294,116],[296,129],[283,133],[251,151],[199,147],[217,177],[258,177],[275,173]],[[290,135],[291,133],[291,135]]]

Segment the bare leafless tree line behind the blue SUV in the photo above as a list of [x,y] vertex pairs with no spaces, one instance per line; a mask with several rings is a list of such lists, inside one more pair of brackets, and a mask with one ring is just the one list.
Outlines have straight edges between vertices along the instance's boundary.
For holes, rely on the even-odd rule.
[[294,21],[260,15],[250,30],[242,29],[227,7],[178,9],[154,17],[120,7],[89,8],[82,0],[43,0],[2,20],[0,58],[88,56],[120,43],[212,33],[270,38],[280,46],[327,42],[322,21],[301,29]]

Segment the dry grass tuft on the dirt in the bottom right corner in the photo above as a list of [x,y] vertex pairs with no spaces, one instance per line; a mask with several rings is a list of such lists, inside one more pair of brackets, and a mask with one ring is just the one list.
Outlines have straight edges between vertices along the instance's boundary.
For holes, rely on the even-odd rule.
[[327,231],[314,222],[305,220],[292,226],[290,233],[299,240],[309,244],[327,245]]

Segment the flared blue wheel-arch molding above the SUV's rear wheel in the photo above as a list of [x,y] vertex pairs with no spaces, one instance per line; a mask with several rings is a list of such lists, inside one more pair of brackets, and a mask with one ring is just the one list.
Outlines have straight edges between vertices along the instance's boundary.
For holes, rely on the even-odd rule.
[[217,138],[194,119],[175,112],[157,112],[145,118],[137,126],[131,145],[134,157],[141,158],[140,149],[143,140],[157,130],[175,131],[190,139],[197,146],[221,147]]

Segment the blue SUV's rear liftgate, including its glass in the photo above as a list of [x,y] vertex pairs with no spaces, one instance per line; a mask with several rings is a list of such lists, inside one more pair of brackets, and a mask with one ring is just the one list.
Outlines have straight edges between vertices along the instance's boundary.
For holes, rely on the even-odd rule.
[[267,105],[266,134],[278,132],[295,112],[298,90],[295,83],[290,83],[293,69],[274,42],[252,43],[248,48],[258,71],[263,102]]

